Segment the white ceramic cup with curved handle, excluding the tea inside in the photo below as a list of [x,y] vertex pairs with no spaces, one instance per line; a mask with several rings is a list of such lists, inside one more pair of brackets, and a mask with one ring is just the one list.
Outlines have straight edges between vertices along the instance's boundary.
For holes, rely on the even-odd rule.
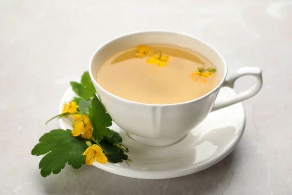
[[[209,59],[217,68],[218,86],[200,98],[175,104],[146,104],[117,97],[103,89],[96,81],[101,64],[111,55],[140,44],[171,44],[194,50]],[[189,35],[168,31],[145,31],[113,39],[97,49],[90,59],[89,73],[99,99],[113,121],[136,141],[147,145],[163,146],[181,140],[212,111],[251,98],[262,87],[259,68],[240,68],[226,79],[227,65],[222,56],[208,43]],[[256,84],[250,89],[223,102],[215,102],[221,87],[234,87],[237,78],[254,76]],[[114,78],[109,78],[114,79]]]

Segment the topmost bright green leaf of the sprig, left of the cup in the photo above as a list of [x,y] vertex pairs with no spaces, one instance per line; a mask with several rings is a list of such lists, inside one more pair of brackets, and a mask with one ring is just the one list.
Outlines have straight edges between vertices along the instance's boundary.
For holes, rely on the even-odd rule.
[[81,77],[81,83],[70,82],[73,91],[81,98],[90,99],[96,93],[94,85],[92,84],[89,73],[86,71]]

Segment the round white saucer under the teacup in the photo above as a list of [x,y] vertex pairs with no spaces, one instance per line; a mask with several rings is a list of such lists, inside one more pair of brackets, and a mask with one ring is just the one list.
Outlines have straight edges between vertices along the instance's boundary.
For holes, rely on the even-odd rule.
[[[236,92],[222,88],[218,100],[231,98]],[[62,98],[59,113],[64,101],[76,95],[68,89]],[[72,129],[72,123],[59,119],[62,129]],[[241,103],[212,112],[181,141],[169,146],[147,146],[128,137],[115,123],[110,129],[119,132],[123,144],[128,147],[132,162],[113,164],[93,163],[104,171],[143,179],[164,179],[186,176],[206,169],[229,155],[240,140],[245,126],[245,113]]]

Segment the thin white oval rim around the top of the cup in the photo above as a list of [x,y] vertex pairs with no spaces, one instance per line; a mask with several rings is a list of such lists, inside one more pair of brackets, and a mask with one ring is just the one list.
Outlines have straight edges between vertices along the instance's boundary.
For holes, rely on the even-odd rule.
[[[145,33],[168,33],[168,34],[176,34],[176,35],[180,35],[180,36],[186,36],[186,37],[189,37],[191,39],[195,39],[205,45],[207,45],[208,47],[210,47],[212,50],[214,50],[217,55],[219,56],[219,58],[222,60],[223,62],[223,66],[224,66],[224,75],[221,79],[221,81],[219,82],[219,84],[213,89],[211,90],[210,92],[208,92],[207,94],[199,97],[199,98],[195,98],[195,99],[192,99],[192,100],[189,100],[189,101],[184,101],[184,102],[179,102],[179,103],[173,103],[173,104],[148,104],[148,103],[141,103],[141,102],[136,102],[136,101],[131,101],[131,100],[128,100],[128,99],[125,99],[125,98],[121,98],[121,97],[118,97],[110,92],[108,92],[107,90],[105,90],[102,86],[100,86],[98,84],[98,82],[95,80],[95,78],[93,77],[92,75],[92,72],[91,72],[91,67],[92,67],[92,60],[93,58],[97,55],[97,53],[104,47],[106,47],[108,44],[110,44],[111,42],[114,42],[118,39],[121,39],[121,38],[124,38],[124,37],[130,37],[130,36],[133,36],[133,35],[137,35],[137,34],[145,34]],[[144,30],[144,31],[134,31],[134,32],[130,32],[130,33],[127,33],[127,34],[123,34],[121,36],[118,36],[114,39],[111,39],[107,42],[105,42],[103,45],[101,45],[99,48],[97,48],[97,50],[95,50],[95,52],[91,55],[91,58],[89,60],[89,75],[91,77],[91,81],[94,82],[95,85],[97,85],[99,88],[101,88],[105,93],[107,93],[108,95],[114,97],[114,98],[117,98],[121,101],[124,101],[124,102],[127,102],[127,103],[132,103],[132,104],[137,104],[137,105],[147,105],[147,106],[176,106],[176,105],[183,105],[183,104],[188,104],[188,103],[192,103],[192,102],[196,102],[196,101],[199,101],[201,99],[204,99],[208,96],[210,96],[211,94],[213,94],[216,90],[218,90],[226,76],[227,76],[227,64],[226,64],[226,61],[224,60],[224,58],[221,56],[221,54],[212,46],[210,45],[209,43],[203,41],[202,39],[199,39],[199,38],[196,38],[196,37],[193,37],[191,35],[188,35],[186,33],[183,33],[183,32],[177,32],[177,31],[168,31],[168,30]],[[98,93],[98,92],[97,92]]]

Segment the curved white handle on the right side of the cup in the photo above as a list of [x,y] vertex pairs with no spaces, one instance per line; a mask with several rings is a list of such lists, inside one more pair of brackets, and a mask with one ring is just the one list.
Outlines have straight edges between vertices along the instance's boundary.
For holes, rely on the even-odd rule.
[[246,91],[241,92],[240,94],[238,94],[234,98],[224,100],[221,102],[216,102],[212,108],[212,111],[219,110],[219,109],[224,108],[226,106],[230,106],[232,104],[238,103],[238,102],[243,101],[245,99],[251,98],[259,92],[259,90],[261,89],[261,87],[263,85],[262,70],[259,68],[255,68],[255,67],[244,67],[244,68],[238,69],[234,75],[232,75],[228,79],[225,79],[222,87],[234,88],[234,83],[237,80],[237,78],[240,78],[240,77],[246,76],[246,75],[256,77],[256,84],[254,86],[252,86],[251,88],[247,89]]

